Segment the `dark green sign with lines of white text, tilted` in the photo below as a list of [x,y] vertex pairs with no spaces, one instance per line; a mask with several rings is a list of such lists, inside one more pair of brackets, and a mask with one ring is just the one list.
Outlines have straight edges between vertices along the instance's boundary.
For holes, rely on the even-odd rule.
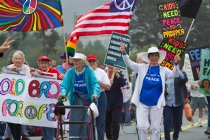
[[129,54],[130,40],[131,37],[128,35],[113,32],[109,43],[109,48],[105,56],[104,64],[120,69],[126,69],[126,65],[120,52],[120,45],[122,42],[124,42],[126,53]]

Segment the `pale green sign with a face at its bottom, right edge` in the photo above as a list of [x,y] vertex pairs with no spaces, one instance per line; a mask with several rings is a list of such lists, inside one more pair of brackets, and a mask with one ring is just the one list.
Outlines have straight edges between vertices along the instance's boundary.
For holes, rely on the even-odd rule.
[[210,50],[201,51],[200,93],[210,96]]

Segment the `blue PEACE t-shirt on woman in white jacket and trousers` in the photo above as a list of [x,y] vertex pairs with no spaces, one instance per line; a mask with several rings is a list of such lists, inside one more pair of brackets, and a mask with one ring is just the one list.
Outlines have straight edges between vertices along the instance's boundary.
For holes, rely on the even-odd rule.
[[157,105],[162,93],[160,66],[150,66],[143,80],[140,102],[147,106]]

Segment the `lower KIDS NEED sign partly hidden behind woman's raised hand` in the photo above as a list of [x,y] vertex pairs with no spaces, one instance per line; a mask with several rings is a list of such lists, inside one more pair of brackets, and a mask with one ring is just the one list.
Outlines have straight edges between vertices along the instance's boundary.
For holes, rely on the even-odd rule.
[[165,38],[161,45],[160,50],[166,51],[166,58],[160,63],[161,66],[165,66],[173,70],[174,56],[182,56],[186,48],[186,43],[176,40],[174,38]]

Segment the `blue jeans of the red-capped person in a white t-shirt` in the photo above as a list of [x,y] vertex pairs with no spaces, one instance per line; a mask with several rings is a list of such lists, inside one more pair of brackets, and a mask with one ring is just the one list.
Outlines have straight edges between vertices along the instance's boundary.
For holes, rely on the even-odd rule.
[[98,140],[104,140],[106,108],[107,108],[106,93],[101,92],[100,97],[98,99],[99,116],[96,118]]

